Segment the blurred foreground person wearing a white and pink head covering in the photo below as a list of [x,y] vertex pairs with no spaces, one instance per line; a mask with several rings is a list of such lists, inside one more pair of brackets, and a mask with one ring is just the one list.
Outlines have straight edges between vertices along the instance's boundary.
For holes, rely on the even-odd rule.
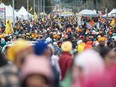
[[88,49],[77,55],[72,70],[72,87],[85,87],[89,79],[105,72],[105,63],[98,52]]

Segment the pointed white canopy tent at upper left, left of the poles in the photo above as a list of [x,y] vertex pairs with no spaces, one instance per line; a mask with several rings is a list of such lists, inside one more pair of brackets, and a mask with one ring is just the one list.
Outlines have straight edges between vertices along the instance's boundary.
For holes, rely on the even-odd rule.
[[21,9],[18,11],[18,15],[19,18],[25,19],[27,20],[28,17],[33,17],[32,14],[30,14],[23,6],[21,7]]

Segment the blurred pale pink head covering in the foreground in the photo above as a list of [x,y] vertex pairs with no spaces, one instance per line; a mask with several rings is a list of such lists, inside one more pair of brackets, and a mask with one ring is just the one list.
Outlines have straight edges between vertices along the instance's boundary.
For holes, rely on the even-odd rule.
[[49,61],[42,56],[30,55],[21,69],[21,76],[24,80],[32,74],[45,76],[47,79],[53,79],[53,72]]

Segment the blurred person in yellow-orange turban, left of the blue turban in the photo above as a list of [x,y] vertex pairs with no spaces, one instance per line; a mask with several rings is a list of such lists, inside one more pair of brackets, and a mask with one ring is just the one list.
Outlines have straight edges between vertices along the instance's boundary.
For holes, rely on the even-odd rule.
[[28,41],[19,39],[13,43],[7,50],[7,58],[10,62],[15,64],[18,69],[22,66],[26,56],[33,54],[33,47]]

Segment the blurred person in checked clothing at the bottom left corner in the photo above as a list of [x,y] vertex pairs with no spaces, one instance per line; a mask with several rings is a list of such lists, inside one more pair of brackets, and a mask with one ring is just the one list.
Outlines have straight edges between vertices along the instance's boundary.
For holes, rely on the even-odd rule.
[[20,87],[18,69],[0,51],[0,87]]

